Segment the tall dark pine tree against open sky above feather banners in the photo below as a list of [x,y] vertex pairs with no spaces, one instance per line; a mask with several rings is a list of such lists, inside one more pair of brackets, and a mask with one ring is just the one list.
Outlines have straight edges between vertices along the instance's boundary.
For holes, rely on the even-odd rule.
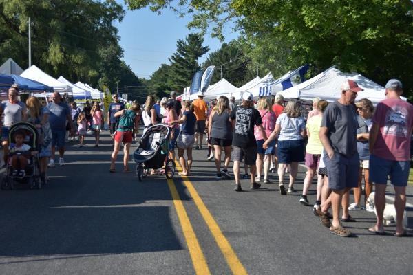
[[193,74],[200,70],[198,58],[209,51],[203,47],[204,38],[200,34],[189,34],[185,40],[179,39],[176,43],[176,52],[169,58],[171,62],[171,86],[177,91],[191,85]]

